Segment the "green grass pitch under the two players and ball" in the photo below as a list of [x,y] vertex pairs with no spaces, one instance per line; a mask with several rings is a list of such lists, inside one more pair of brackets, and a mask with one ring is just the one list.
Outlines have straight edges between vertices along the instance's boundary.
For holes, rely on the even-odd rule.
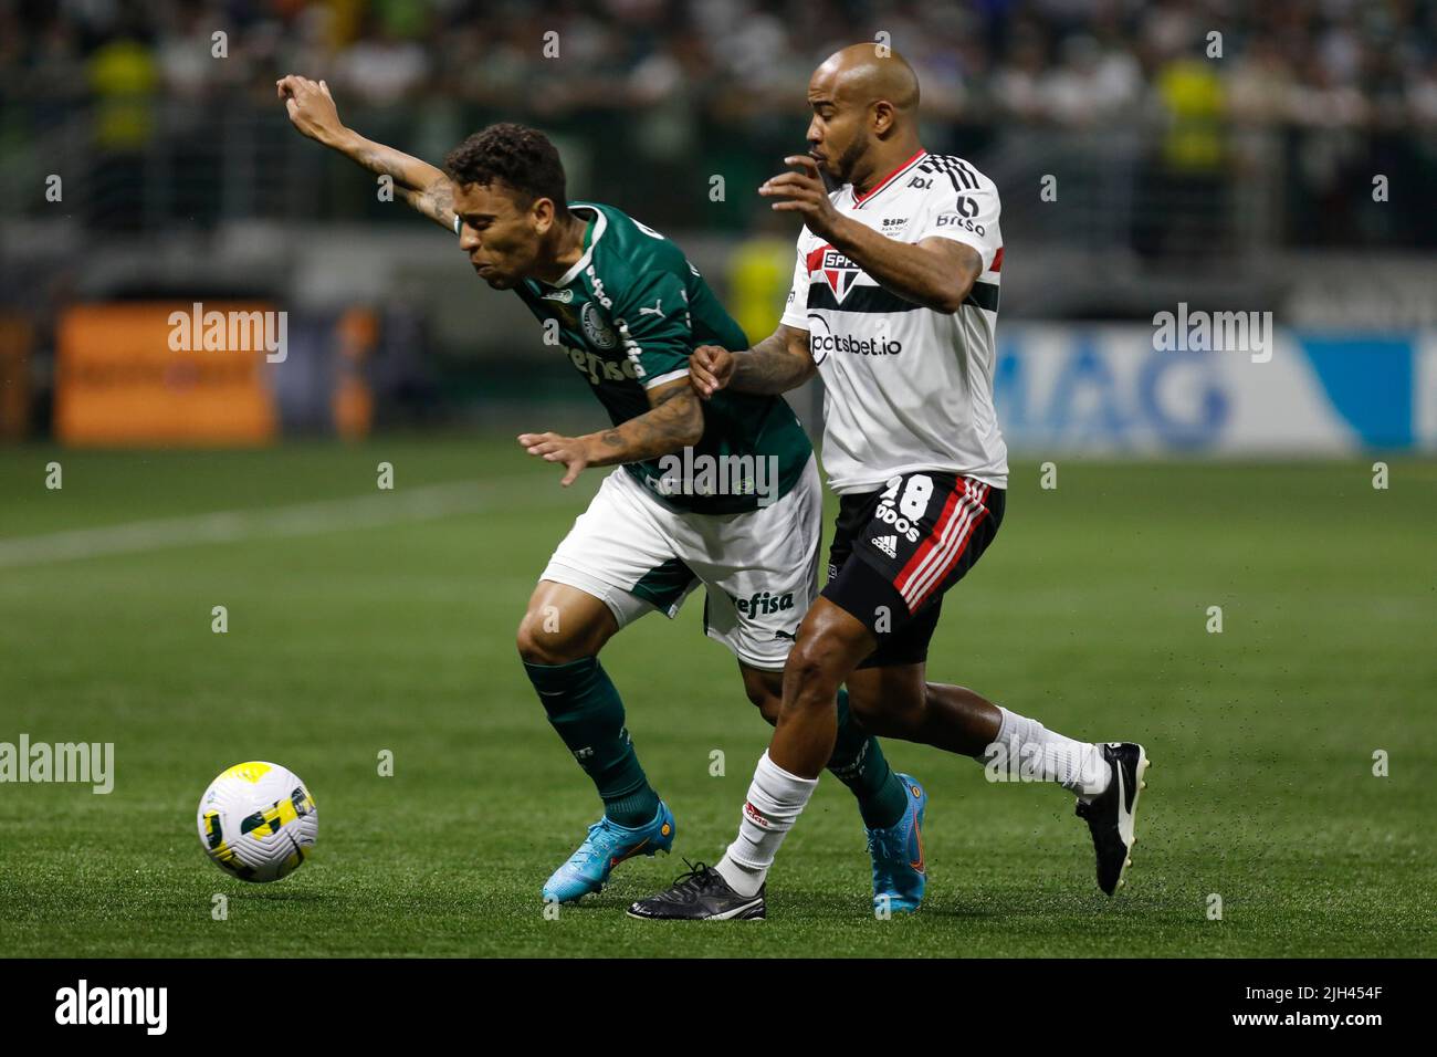
[[[52,459],[59,492],[45,488]],[[392,493],[375,489],[381,460]],[[1069,735],[1147,745],[1128,889],[1096,890],[1061,790],[888,743],[931,794],[917,918],[871,916],[858,815],[829,778],[770,879],[770,920],[694,926],[624,916],[683,871],[680,854],[625,863],[556,920],[539,902],[598,800],[513,630],[602,473],[563,492],[503,440],[0,450],[0,741],[116,754],[109,795],[0,785],[0,953],[1437,953],[1437,465],[1394,460],[1388,490],[1369,459],[1065,460],[1056,490],[1015,466],[1007,521],[948,595],[930,677]],[[480,485],[471,500],[402,506],[463,480]],[[325,505],[352,496],[399,506],[351,521]],[[293,505],[309,513],[264,515]],[[14,542],[216,511],[259,516],[95,557]],[[80,555],[112,544],[70,538]],[[227,634],[210,630],[214,605]],[[1221,634],[1204,630],[1210,605]],[[700,608],[647,617],[605,664],[677,814],[675,851],[713,863],[767,728]],[[392,778],[376,774],[382,749]],[[221,874],[195,834],[205,785],[251,758],[295,769],[320,811],[315,856],[269,886]],[[217,893],[227,920],[211,916]]]

